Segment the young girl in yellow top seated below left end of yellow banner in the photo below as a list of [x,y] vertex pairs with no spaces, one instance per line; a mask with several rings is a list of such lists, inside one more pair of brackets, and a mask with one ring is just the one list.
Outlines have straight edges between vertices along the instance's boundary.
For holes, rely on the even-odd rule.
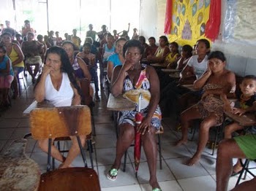
[[167,66],[167,69],[174,69],[176,62],[178,61],[178,58],[180,58],[181,56],[178,52],[178,43],[170,43],[169,48],[170,53],[165,58],[165,65]]

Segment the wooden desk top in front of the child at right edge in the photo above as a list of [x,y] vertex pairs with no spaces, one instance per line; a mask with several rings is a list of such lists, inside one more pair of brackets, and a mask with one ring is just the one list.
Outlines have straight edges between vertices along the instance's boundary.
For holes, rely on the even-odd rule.
[[233,114],[232,112],[225,112],[227,117],[230,117],[232,120],[238,122],[241,126],[251,126],[256,125],[255,114]]

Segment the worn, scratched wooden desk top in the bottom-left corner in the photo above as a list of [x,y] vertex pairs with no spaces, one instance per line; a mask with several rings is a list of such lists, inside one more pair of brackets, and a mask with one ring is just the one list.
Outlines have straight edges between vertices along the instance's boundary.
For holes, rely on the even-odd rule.
[[17,139],[0,156],[1,190],[37,190],[40,170],[25,154],[26,139]]

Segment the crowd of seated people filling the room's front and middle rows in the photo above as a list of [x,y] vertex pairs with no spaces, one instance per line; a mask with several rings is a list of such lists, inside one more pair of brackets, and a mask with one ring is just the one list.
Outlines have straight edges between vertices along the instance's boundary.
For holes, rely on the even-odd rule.
[[[33,62],[31,60],[38,59],[39,66],[42,65],[42,61],[39,60],[42,59],[40,52],[42,52],[43,44],[34,41],[33,35],[31,32],[27,34],[27,41],[23,42],[21,48],[18,44],[12,43],[10,34],[1,35],[0,87],[3,101],[7,101],[10,85],[17,77],[15,74],[22,71],[20,68],[24,67],[25,53],[31,55],[31,59],[26,59],[25,63],[29,64]],[[60,47],[48,48],[44,55],[42,72],[35,82],[34,96],[38,102],[46,99],[55,106],[81,104],[84,93],[80,88],[80,80],[86,78],[90,82],[92,78],[97,78],[96,63],[99,59],[102,59],[100,64],[102,64],[103,69],[107,67],[110,92],[114,96],[129,90],[147,90],[151,94],[148,106],[139,111],[143,114],[143,120],[138,125],[137,130],[134,128],[137,111],[120,112],[118,119],[120,134],[116,143],[116,159],[107,174],[108,179],[112,181],[116,180],[121,165],[121,157],[132,144],[135,133],[138,131],[141,134],[143,149],[148,160],[149,184],[151,184],[152,190],[160,190],[157,182],[157,144],[154,135],[156,130],[161,127],[161,105],[165,105],[169,101],[176,104],[180,103],[176,120],[180,122],[182,136],[176,143],[177,147],[181,144],[187,144],[188,129],[192,120],[201,120],[197,150],[195,155],[186,162],[186,165],[195,165],[200,160],[208,141],[209,130],[222,124],[225,119],[225,110],[236,114],[255,111],[256,77],[252,75],[244,77],[240,85],[241,91],[236,90],[236,76],[233,71],[226,69],[224,53],[211,52],[210,43],[206,39],[197,41],[195,55],[193,55],[192,47],[188,44],[181,48],[181,54],[179,54],[178,44],[176,42],[168,44],[166,36],[159,37],[159,47],[155,44],[154,37],[148,39],[150,42],[148,45],[143,36],[139,36],[139,40],[115,39],[112,34],[104,33],[104,31],[102,31],[102,36],[104,40],[98,49],[99,54],[93,53],[95,47],[93,47],[91,36],[87,36],[83,44],[83,51],[77,52],[77,54],[75,54],[75,44],[71,41],[62,42]],[[30,52],[31,50],[34,51]],[[151,63],[162,63],[162,66],[168,69],[177,69],[181,71],[181,78],[177,81],[167,77],[161,70],[150,66]],[[38,73],[39,68],[36,67],[34,71],[29,72]],[[36,77],[37,74],[33,75]],[[196,91],[184,90],[181,85],[186,83],[193,84]],[[237,95],[240,104],[238,108],[237,106],[232,108],[228,100],[235,91],[240,92]],[[3,102],[3,104],[8,103]],[[230,160],[233,157],[256,158],[252,144],[255,141],[254,135],[231,139],[234,131],[242,129],[244,127],[236,122],[225,128],[225,141],[219,145],[217,155],[217,190],[227,189],[228,178],[232,174],[232,162]],[[249,128],[249,130],[253,131],[253,128]],[[63,157],[59,150],[52,146],[52,156],[61,161],[60,168],[69,167],[79,153],[76,139],[72,137],[71,139],[73,144],[67,158]],[[86,138],[81,137],[81,140],[82,144],[85,144]],[[47,140],[39,141],[39,147],[47,152]],[[228,152],[225,150],[227,147],[230,147]],[[241,171],[239,163],[233,168],[233,174],[238,171]]]

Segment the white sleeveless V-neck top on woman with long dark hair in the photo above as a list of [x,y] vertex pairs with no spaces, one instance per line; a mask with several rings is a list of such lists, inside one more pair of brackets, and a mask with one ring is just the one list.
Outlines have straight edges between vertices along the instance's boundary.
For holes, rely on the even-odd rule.
[[74,91],[70,85],[67,73],[62,73],[62,82],[59,91],[53,87],[50,74],[45,79],[45,99],[54,106],[71,106]]

